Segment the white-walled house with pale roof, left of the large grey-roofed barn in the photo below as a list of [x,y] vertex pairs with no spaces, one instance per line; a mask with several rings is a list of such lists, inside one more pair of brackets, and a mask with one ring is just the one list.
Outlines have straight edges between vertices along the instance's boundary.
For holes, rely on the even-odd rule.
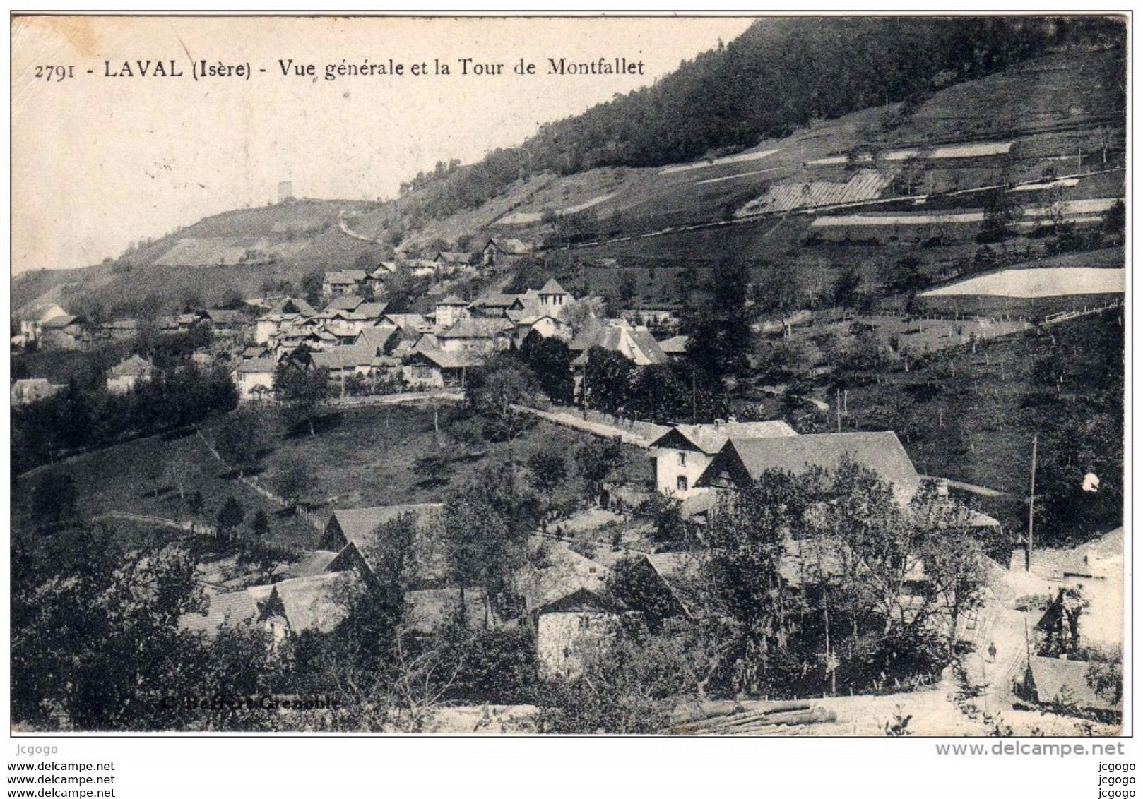
[[798,433],[784,421],[716,422],[677,425],[652,442],[655,490],[679,499],[702,493],[698,478],[732,437],[784,438]]

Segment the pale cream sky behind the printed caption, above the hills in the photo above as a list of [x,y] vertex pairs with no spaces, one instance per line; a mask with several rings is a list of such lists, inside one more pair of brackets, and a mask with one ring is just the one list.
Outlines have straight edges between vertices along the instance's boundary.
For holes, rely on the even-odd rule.
[[[750,23],[17,18],[13,273],[96,264],[144,236],[265,204],[277,199],[280,180],[291,180],[296,196],[392,197],[402,180],[438,160],[472,163],[489,150],[517,145],[544,122],[650,84]],[[502,64],[501,74],[462,74],[464,58]],[[625,58],[644,66],[642,74],[549,75],[549,58]],[[171,59],[183,76],[137,74],[138,62],[153,72]],[[248,65],[250,75],[194,80],[192,59]],[[343,59],[386,66],[392,59],[405,74],[326,80],[326,65]],[[520,59],[535,64],[535,74],[515,74]],[[437,60],[449,65],[449,75],[434,73]],[[125,62],[135,75],[121,74]],[[312,64],[315,74],[283,76],[281,63]],[[413,75],[414,64],[430,74]],[[61,70],[46,66],[72,70],[61,79]]]

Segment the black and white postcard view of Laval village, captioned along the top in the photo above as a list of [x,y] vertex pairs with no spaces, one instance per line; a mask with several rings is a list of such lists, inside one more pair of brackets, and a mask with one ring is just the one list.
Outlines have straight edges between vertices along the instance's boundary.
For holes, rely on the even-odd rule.
[[14,14],[17,753],[1129,733],[1130,22]]

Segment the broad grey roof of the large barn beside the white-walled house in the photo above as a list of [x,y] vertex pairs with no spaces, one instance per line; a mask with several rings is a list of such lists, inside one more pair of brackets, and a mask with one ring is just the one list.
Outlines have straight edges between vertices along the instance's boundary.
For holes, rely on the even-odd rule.
[[802,474],[810,467],[836,471],[842,459],[872,470],[902,505],[920,489],[920,477],[897,435],[822,433],[770,438],[729,438],[696,485],[734,487],[756,481],[768,469]]

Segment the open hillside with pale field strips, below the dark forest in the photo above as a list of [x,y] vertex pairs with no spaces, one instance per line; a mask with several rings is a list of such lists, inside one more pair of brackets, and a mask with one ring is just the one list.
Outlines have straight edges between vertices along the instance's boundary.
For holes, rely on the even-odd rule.
[[[736,46],[726,53],[738,58]],[[977,255],[983,207],[998,186],[1024,209],[1006,249],[1033,259],[1050,255],[1036,250],[1036,236],[1053,205],[1084,225],[1124,196],[1125,55],[1088,45],[1008,60],[942,73],[934,81],[944,88],[930,82],[900,100],[890,92],[888,103],[815,115],[789,135],[698,160],[563,173],[525,170],[517,151],[497,151],[472,167],[441,162],[391,202],[230,211],[113,264],[21,276],[14,292],[17,305],[53,286],[65,307],[210,304],[232,291],[296,286],[314,271],[367,266],[391,247],[431,257],[501,235],[549,244],[546,271],[578,291],[614,294],[633,280],[632,301],[678,300],[678,267],[730,256],[757,280],[781,264],[813,302],[838,269],[874,282],[879,265],[906,256],[930,280],[954,277]]]

